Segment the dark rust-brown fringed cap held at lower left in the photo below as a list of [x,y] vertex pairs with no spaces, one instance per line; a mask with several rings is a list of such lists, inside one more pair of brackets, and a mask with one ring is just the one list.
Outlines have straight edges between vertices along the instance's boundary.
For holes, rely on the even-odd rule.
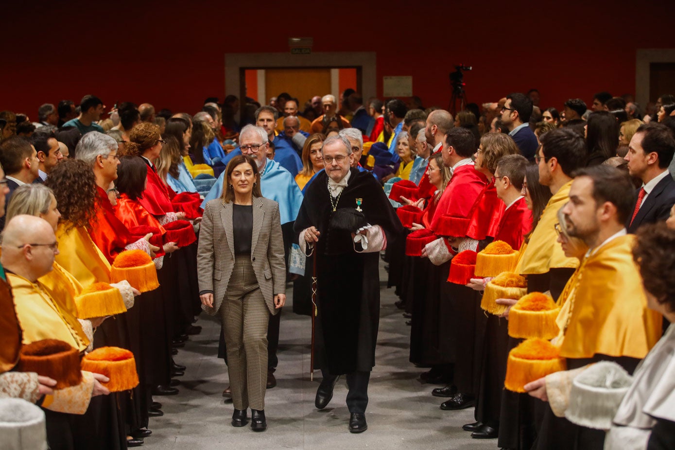
[[24,345],[16,370],[49,376],[56,380],[54,389],[82,383],[80,352],[58,339],[43,339]]

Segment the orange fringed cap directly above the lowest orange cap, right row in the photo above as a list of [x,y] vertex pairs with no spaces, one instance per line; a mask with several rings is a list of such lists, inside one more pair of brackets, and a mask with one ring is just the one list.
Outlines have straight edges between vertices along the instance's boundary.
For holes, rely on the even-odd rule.
[[508,335],[518,339],[553,339],[560,329],[556,324],[560,308],[541,292],[523,296],[509,312]]

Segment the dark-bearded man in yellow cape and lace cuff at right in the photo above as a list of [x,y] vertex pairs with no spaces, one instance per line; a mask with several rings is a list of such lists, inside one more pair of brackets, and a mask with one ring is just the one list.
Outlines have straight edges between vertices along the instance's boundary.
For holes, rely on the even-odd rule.
[[[632,258],[634,236],[626,234],[624,226],[632,209],[632,192],[630,178],[619,169],[589,167],[576,173],[570,200],[562,208],[569,235],[589,247],[561,296],[558,323],[564,326],[556,345],[568,370],[610,360],[632,373],[661,337],[661,316],[647,308]],[[549,402],[536,449],[603,448],[604,430],[564,418],[566,405],[560,399],[571,385],[570,375],[557,372],[525,385],[530,395]]]

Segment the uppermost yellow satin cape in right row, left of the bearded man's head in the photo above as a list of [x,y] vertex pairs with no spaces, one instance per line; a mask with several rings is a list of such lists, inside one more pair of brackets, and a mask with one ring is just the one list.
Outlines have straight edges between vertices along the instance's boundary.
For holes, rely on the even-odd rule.
[[546,204],[529,244],[518,262],[516,273],[531,275],[547,273],[551,269],[576,269],[578,266],[578,259],[565,256],[562,247],[556,242],[558,235],[554,228],[558,223],[558,210],[570,197],[570,186],[572,181],[564,184]]

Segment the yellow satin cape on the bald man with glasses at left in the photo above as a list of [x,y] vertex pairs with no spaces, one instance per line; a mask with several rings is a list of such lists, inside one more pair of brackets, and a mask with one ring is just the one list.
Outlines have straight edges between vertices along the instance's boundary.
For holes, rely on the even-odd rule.
[[24,344],[42,339],[59,339],[78,351],[86,350],[89,339],[84,335],[78,319],[51,298],[39,282],[31,283],[20,275],[8,272],[7,283],[14,296]]

